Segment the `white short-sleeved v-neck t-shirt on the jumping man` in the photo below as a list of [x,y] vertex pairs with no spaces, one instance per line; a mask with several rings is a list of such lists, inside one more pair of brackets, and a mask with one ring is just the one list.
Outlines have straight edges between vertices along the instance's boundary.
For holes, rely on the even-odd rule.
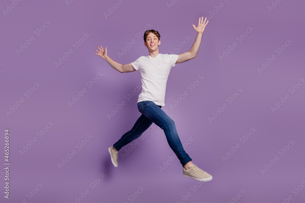
[[170,69],[175,66],[177,54],[158,54],[155,58],[141,56],[131,65],[139,70],[142,77],[142,92],[138,102],[153,101],[156,105],[165,106],[165,89]]

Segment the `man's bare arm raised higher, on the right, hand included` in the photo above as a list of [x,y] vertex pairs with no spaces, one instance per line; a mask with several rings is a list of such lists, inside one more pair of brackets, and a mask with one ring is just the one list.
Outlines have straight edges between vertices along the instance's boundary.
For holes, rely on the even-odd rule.
[[197,31],[197,36],[196,36],[195,42],[194,42],[190,51],[178,55],[178,59],[176,61],[176,64],[188,61],[188,60],[190,60],[192,58],[195,58],[197,56],[197,53],[198,53],[198,50],[199,50],[199,47],[200,47],[200,43],[201,43],[202,33],[204,31],[204,28],[208,24],[208,22],[209,21],[206,21],[206,18],[203,21],[203,17],[202,17],[201,18],[201,23],[200,23],[200,18],[199,18],[199,23],[198,23],[197,27],[195,27],[195,25],[193,25],[194,29]]

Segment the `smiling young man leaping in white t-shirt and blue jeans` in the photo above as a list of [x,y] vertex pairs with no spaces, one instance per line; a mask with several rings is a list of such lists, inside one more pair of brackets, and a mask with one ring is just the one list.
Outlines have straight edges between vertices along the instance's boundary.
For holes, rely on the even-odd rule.
[[198,26],[193,25],[197,31],[197,37],[190,51],[183,54],[160,54],[159,45],[160,34],[156,30],[146,30],[144,33],[144,46],[147,47],[149,55],[142,56],[136,61],[122,65],[113,61],[107,55],[107,47],[105,51],[102,46],[95,50],[97,55],[105,59],[114,69],[120,73],[133,72],[139,70],[142,77],[142,92],[138,98],[138,110],[142,114],[132,129],[126,132],[113,146],[109,147],[111,161],[115,167],[118,166],[118,151],[134,139],[140,137],[142,133],[149,128],[152,123],[164,130],[167,142],[170,148],[175,152],[180,163],[182,164],[183,176],[198,181],[212,180],[212,176],[205,171],[199,169],[192,163],[192,159],[183,149],[180,138],[176,131],[174,121],[161,110],[161,106],[165,106],[165,89],[170,69],[177,63],[182,63],[195,58],[199,50],[201,37],[205,26],[206,18],[199,18]]

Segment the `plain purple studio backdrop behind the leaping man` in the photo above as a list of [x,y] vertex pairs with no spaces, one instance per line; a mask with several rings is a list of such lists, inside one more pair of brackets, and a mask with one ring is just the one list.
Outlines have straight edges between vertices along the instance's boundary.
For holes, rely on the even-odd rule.
[[[24,199],[33,203],[77,202],[76,198],[86,189],[90,193],[80,202],[218,203],[235,202],[231,198],[236,197],[238,202],[280,203],[289,195],[290,202],[303,202],[305,86],[297,84],[305,76],[305,3],[278,0],[280,4],[269,12],[267,6],[272,5],[271,0],[181,0],[172,1],[175,4],[170,7],[167,5],[170,0],[123,0],[106,19],[104,13],[117,2],[75,0],[66,5],[64,0],[21,1],[4,14],[3,10],[12,1],[1,1],[0,151],[3,164],[4,130],[8,128],[11,163],[9,199],[3,193],[5,165],[0,168],[1,202]],[[223,7],[217,7],[220,3]],[[210,14],[213,10],[214,16]],[[190,50],[196,38],[192,24],[197,26],[199,17],[209,15],[197,57],[171,69],[162,109],[175,121],[193,163],[210,173],[213,180],[199,184],[184,178],[179,160],[169,158],[173,152],[159,127],[147,130],[137,139],[138,145],[131,142],[136,146],[134,149],[131,145],[123,147],[119,152],[119,167],[115,168],[108,147],[129,131],[141,115],[137,110],[139,92],[130,100],[125,98],[141,85],[141,75],[140,72],[120,74],[95,55],[95,49],[99,45],[107,46],[109,57],[121,64],[148,55],[143,34],[140,37],[136,34],[150,23],[150,29],[161,34],[160,53],[181,54]],[[52,23],[37,36],[34,31],[45,20]],[[247,26],[254,29],[247,36],[245,33],[240,42],[236,38],[246,32]],[[75,49],[73,44],[83,33],[90,36]],[[31,36],[35,39],[17,54],[16,49]],[[185,36],[191,40],[183,44]],[[133,39],[136,43],[119,57],[117,53]],[[292,43],[278,55],[276,49],[286,39]],[[220,60],[219,55],[234,42],[238,46]],[[178,44],[183,47],[177,49]],[[74,52],[56,68],[55,62],[69,49]],[[259,73],[257,68],[272,55],[276,59]],[[103,74],[102,78],[89,89],[86,83],[97,72]],[[188,86],[198,75],[205,79],[191,91]],[[26,98],[24,93],[33,88],[34,82],[41,85]],[[295,85],[299,89],[292,94],[289,89]],[[87,92],[70,107],[68,101],[83,88]],[[236,88],[243,92],[229,104],[226,99]],[[185,99],[170,108],[184,91],[188,92]],[[271,107],[286,94],[289,99],[272,112]],[[24,102],[7,116],[5,112],[20,98]],[[108,119],[107,114],[122,101],[126,105]],[[210,122],[208,117],[223,104],[227,108]],[[48,121],[54,123],[49,129],[45,128]],[[251,127],[257,131],[242,143],[240,138]],[[48,131],[39,137],[37,132],[43,128]],[[93,137],[78,150],[76,145],[86,134]],[[21,156],[20,151],[35,137],[38,141]],[[188,138],[193,141],[187,144]],[[286,147],[289,150],[285,154],[279,153],[289,140],[296,143]],[[238,143],[240,147],[224,162],[222,156],[232,153],[231,147]],[[123,159],[120,154],[127,154],[128,149],[131,152]],[[58,163],[73,150],[77,153],[59,169]],[[279,159],[262,174],[261,169],[275,156]],[[159,166],[163,165],[166,168],[161,172]],[[106,177],[96,181],[99,184],[92,190],[90,184],[100,173]],[[28,193],[33,190],[35,193],[40,183],[44,185],[41,190],[30,196]],[[200,187],[194,189],[194,184]],[[145,189],[138,194],[141,186]],[[298,186],[303,190],[293,193]],[[247,192],[239,196],[240,189]],[[137,197],[134,199],[131,194]],[[187,194],[185,201],[183,197],[186,199]]]

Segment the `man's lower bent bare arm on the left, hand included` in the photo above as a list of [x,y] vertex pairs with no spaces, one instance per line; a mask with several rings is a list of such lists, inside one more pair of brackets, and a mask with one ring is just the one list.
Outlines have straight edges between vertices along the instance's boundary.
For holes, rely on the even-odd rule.
[[98,47],[99,51],[95,50],[97,53],[94,53],[94,54],[99,55],[100,57],[105,59],[109,63],[109,65],[112,66],[112,68],[116,69],[120,73],[136,71],[136,69],[131,65],[131,63],[122,65],[122,64],[118,63],[117,61],[114,61],[112,58],[107,56],[107,47],[105,48],[105,51],[102,46],[100,46],[100,47]]

